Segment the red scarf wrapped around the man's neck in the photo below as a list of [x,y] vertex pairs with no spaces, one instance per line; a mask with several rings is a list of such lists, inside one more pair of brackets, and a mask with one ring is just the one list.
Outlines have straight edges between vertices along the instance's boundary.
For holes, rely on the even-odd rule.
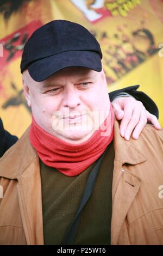
[[[72,144],[62,141],[44,131],[36,124],[34,118],[30,126],[29,138],[43,163],[67,176],[76,176],[104,153],[114,137],[113,124],[114,114],[110,103],[110,112],[104,123],[83,143]],[[106,131],[109,131],[109,134],[103,136]]]

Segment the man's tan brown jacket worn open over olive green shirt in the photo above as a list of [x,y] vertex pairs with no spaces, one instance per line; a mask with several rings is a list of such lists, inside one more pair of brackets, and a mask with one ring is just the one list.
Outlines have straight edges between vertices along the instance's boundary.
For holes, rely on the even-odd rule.
[[[125,141],[114,125],[112,245],[163,245],[163,131]],[[0,160],[0,245],[43,245],[39,157],[29,129]],[[2,191],[3,190],[3,191]]]

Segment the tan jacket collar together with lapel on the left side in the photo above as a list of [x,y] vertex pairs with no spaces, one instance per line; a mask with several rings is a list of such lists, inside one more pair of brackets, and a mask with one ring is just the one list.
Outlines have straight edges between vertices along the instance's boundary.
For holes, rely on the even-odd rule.
[[0,160],[0,176],[17,180],[18,203],[27,244],[43,245],[40,164],[29,142],[29,129],[14,147],[2,157],[2,163]]

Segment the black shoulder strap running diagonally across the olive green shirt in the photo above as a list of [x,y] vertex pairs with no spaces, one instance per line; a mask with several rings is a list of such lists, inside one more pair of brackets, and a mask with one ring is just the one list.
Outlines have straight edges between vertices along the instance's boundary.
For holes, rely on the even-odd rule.
[[76,216],[74,217],[74,220],[72,221],[70,227],[67,230],[64,240],[62,241],[62,245],[72,245],[73,244],[73,241],[77,235],[77,231],[78,231],[78,227],[79,227],[79,223],[80,223],[80,217],[82,214],[82,209],[84,208],[84,205],[86,204],[87,200],[89,200],[89,198],[92,194],[93,188],[95,187],[95,182],[96,182],[96,177],[97,177],[97,174],[99,171],[99,167],[101,166],[101,162],[103,160],[103,157],[104,157],[106,151],[108,151],[107,149],[102,154],[102,156],[99,157],[97,163],[95,164],[92,172],[89,175],[89,178],[87,179],[85,190],[83,193],[83,197],[82,197],[79,209],[77,211]]

